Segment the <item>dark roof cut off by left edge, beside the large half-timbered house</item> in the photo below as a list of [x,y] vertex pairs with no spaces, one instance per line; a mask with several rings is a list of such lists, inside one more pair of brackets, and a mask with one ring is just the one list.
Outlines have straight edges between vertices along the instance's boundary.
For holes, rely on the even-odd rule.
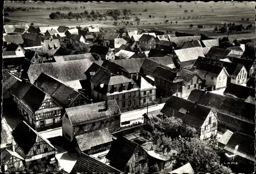
[[10,73],[3,72],[3,93],[13,88],[14,85],[17,85],[19,80],[12,76]]

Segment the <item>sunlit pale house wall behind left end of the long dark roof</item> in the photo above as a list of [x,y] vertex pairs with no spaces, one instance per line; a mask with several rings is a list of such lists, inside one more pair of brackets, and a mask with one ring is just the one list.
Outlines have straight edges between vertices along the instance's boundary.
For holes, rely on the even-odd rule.
[[201,89],[202,80],[195,75],[193,79],[191,79],[189,82],[184,81],[184,85],[182,86],[182,98],[186,98],[189,96],[190,92],[194,89]]

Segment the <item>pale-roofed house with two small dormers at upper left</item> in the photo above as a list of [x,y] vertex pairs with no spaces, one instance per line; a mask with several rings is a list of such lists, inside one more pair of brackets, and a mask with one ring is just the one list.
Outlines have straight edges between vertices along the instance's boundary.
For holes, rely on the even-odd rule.
[[53,56],[55,52],[60,48],[58,39],[44,40],[44,45],[42,46],[42,51]]

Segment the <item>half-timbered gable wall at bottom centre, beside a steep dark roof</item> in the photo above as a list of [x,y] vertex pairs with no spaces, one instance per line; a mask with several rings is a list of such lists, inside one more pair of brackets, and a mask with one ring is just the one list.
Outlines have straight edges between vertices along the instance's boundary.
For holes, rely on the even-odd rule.
[[148,161],[146,151],[138,146],[132,157],[126,164],[125,172],[148,172]]

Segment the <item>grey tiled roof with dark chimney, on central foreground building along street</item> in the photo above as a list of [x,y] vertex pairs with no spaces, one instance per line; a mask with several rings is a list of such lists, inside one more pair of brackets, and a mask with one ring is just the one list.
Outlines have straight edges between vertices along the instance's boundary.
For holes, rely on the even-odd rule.
[[73,126],[82,125],[87,122],[118,116],[121,114],[116,100],[108,101],[108,110],[99,111],[105,108],[105,101],[66,108],[66,112]]

